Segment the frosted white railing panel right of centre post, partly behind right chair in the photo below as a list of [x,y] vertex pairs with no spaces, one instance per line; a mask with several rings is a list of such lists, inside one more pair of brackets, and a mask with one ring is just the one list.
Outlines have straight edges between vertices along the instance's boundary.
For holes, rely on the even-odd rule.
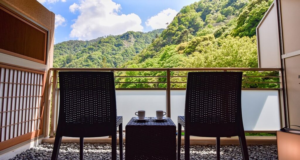
[[[171,91],[171,118],[184,115],[185,90]],[[280,129],[279,95],[277,90],[242,90],[242,115],[247,131]],[[184,128],[183,128],[184,129]]]

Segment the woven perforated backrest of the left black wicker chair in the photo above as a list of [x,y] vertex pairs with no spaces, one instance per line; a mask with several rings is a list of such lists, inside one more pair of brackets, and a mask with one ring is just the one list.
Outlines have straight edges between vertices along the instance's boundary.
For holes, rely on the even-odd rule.
[[59,123],[116,124],[113,72],[60,71],[59,86]]

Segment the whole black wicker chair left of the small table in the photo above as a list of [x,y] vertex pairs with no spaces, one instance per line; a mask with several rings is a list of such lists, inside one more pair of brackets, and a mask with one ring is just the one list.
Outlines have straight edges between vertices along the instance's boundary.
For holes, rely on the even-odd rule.
[[119,126],[120,159],[122,151],[122,116],[117,116],[113,72],[59,72],[60,104],[52,160],[58,158],[61,137],[79,137],[80,160],[83,137],[112,136],[112,159],[117,159]]

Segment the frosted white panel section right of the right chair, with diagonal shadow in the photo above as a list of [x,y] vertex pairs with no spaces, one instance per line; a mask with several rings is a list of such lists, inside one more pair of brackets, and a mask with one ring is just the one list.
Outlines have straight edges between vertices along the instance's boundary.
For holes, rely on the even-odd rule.
[[279,95],[277,90],[243,90],[242,115],[247,131],[280,129]]

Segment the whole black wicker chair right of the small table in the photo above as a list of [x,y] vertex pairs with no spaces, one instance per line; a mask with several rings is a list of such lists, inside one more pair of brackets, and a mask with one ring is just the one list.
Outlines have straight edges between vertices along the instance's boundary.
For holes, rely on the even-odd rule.
[[216,137],[220,159],[220,137],[238,136],[244,160],[249,159],[241,113],[242,72],[189,72],[185,116],[178,116],[178,159],[181,127],[184,127],[184,159],[190,159],[190,136]]

